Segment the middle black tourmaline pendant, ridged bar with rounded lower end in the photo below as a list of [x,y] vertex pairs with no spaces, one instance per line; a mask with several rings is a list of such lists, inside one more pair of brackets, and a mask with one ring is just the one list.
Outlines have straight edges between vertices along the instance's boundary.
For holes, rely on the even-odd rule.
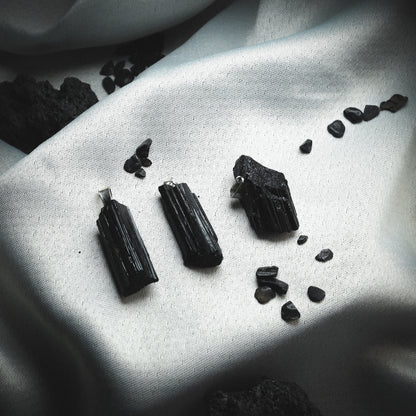
[[159,186],[159,192],[185,266],[218,266],[222,262],[222,251],[197,196],[186,183],[172,181]]

